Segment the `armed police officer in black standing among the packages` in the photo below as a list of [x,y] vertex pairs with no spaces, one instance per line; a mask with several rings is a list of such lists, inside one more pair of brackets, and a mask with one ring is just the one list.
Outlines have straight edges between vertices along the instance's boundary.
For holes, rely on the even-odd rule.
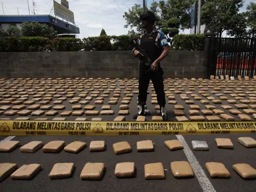
[[[138,113],[134,115],[133,119],[136,119],[139,115],[145,115],[147,90],[151,79],[156,91],[158,105],[160,105],[160,115],[166,121],[168,117],[164,109],[166,101],[160,61],[168,53],[168,41],[162,31],[157,31],[154,28],[154,22],[156,21],[154,13],[146,11],[140,16],[140,19],[144,34],[140,36],[138,44],[143,53],[146,54],[143,55],[136,48],[132,49],[134,55],[140,57]],[[150,63],[148,64],[147,61],[150,61]]]

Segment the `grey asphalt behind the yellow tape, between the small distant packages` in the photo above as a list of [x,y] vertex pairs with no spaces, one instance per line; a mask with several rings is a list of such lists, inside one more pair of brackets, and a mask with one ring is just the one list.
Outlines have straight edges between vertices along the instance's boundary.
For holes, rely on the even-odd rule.
[[[30,80],[30,81],[32,81],[32,80]],[[1,82],[3,82],[3,83],[1,84]],[[37,84],[33,84],[33,83],[29,84],[29,81],[25,81],[25,82],[27,82],[27,83],[22,84],[21,87],[17,87],[17,85],[19,85],[17,83],[19,83],[19,82],[15,82],[15,80],[0,81],[0,89],[6,90],[6,91],[0,91],[1,101],[4,101],[5,99],[7,99],[7,98],[5,98],[5,96],[9,95],[9,93],[11,93],[13,91],[14,92],[16,91],[16,94],[19,95],[20,97],[21,96],[25,97],[25,95],[24,95],[25,93],[21,94],[21,92],[24,92],[24,91],[27,92],[27,91],[29,91],[29,89],[35,89],[36,93],[38,94],[38,93],[42,92],[40,89],[45,89],[45,93],[42,95],[42,99],[44,100],[44,97],[46,97],[45,95],[47,95],[47,97],[52,97],[52,101],[50,101],[50,103],[47,105],[51,105],[52,107],[54,105],[65,105],[65,107],[66,107],[66,109],[63,109],[63,110],[57,110],[58,114],[53,117],[45,116],[45,115],[39,116],[40,118],[47,117],[49,120],[53,119],[54,117],[61,117],[60,114],[63,111],[75,111],[72,109],[72,105],[80,105],[79,103],[71,104],[69,101],[72,100],[72,98],[67,98],[67,100],[63,101],[62,104],[53,104],[53,102],[57,100],[57,98],[54,97],[55,94],[60,94],[60,93],[62,94],[63,92],[66,92],[66,94],[62,95],[62,97],[66,97],[68,95],[68,93],[73,92],[74,97],[78,97],[78,95],[80,95],[80,93],[82,93],[82,91],[78,91],[78,87],[80,87],[81,85],[83,85],[82,87],[84,87],[83,91],[88,90],[88,89],[85,89],[85,87],[87,87],[88,85],[89,85],[89,87],[92,87],[94,89],[93,91],[98,91],[98,89],[94,88],[95,87],[94,84],[98,83],[99,85],[103,85],[102,81],[100,81],[100,80],[98,80],[97,83],[92,83],[91,81],[86,81],[86,80],[81,80],[81,79],[76,80],[75,82],[72,80],[67,80],[66,84],[61,83],[62,81],[59,81],[58,84],[53,83],[54,81],[51,81],[51,80],[49,80],[49,82],[47,80],[41,80],[41,81],[39,81],[39,83],[41,83],[41,84],[38,84],[38,83]],[[33,82],[35,82],[35,81],[33,81]],[[138,91],[138,89],[135,86],[136,83],[138,83],[138,82],[136,82],[134,80],[130,80],[130,84],[128,84],[128,82],[129,81],[127,80],[124,83],[126,88],[132,86],[132,91]],[[6,84],[6,83],[9,83],[9,84]],[[51,83],[52,85],[48,84],[48,83]],[[72,83],[72,84],[70,84],[70,83]],[[116,83],[116,85],[114,85],[113,83]],[[95,104],[94,102],[96,101],[96,97],[93,97],[92,101],[90,101],[90,103],[88,103],[87,105],[95,105],[96,109],[94,109],[94,110],[101,111],[102,105],[108,105],[108,101],[109,101],[110,97],[113,97],[113,95],[114,95],[114,90],[118,89],[120,87],[120,82],[118,80],[116,80],[113,83],[111,83],[111,81],[109,81],[107,83],[108,89],[110,89],[110,87],[112,87],[112,86],[114,86],[114,87],[112,87],[114,89],[112,89],[113,91],[110,91],[109,97],[104,97],[104,103],[102,103],[101,105]],[[197,94],[198,96],[202,97],[202,99],[204,99],[204,100],[207,100],[207,97],[203,97],[199,93],[199,91],[202,91],[202,89],[207,88],[207,87],[209,88],[209,90],[205,91],[205,93],[209,94],[209,96],[215,97],[215,99],[219,99],[219,96],[212,93],[212,91],[214,91],[214,89],[216,89],[216,88],[221,89],[221,90],[219,90],[219,93],[222,93],[228,99],[234,99],[234,97],[231,97],[230,93],[225,93],[225,91],[227,91],[227,89],[229,89],[229,91],[231,90],[231,93],[236,93],[236,91],[241,91],[240,93],[237,93],[237,94],[244,93],[245,95],[242,97],[243,99],[249,100],[249,95],[250,94],[253,95],[254,98],[251,99],[251,100],[253,100],[253,102],[247,104],[247,105],[253,105],[255,103],[254,101],[256,101],[256,97],[255,97],[256,96],[256,94],[255,94],[255,90],[256,90],[255,85],[256,84],[255,83],[256,83],[256,81],[228,81],[227,82],[227,81],[207,81],[207,80],[206,81],[188,81],[188,80],[170,81],[170,80],[167,80],[165,83],[165,89],[166,89],[166,91],[170,91],[171,89],[174,89],[176,91],[178,89],[183,89],[181,91],[181,93],[186,94],[186,91],[189,91],[189,86],[190,87],[194,86],[195,91],[190,91],[190,92],[192,92],[193,94]],[[40,87],[39,87],[39,85],[40,85]],[[63,89],[63,90],[60,90],[59,87],[57,87],[59,85],[61,85],[61,86],[65,85],[67,87],[65,87],[65,89]],[[209,87],[210,85],[213,87]],[[31,87],[26,88],[25,86],[31,86]],[[72,87],[72,86],[76,86],[76,89],[75,88],[71,89],[70,87]],[[152,86],[152,84],[150,84],[150,86]],[[224,87],[220,88],[220,86],[224,86]],[[232,86],[235,86],[237,88],[232,88]],[[102,87],[104,87],[104,86],[102,86]],[[54,91],[52,91],[52,90],[49,91],[50,88],[55,89],[56,93],[53,94],[52,92],[54,92]],[[18,91],[19,89],[25,89],[25,90]],[[39,91],[38,91],[38,89],[39,89]],[[104,89],[104,91],[107,91],[108,89]],[[237,90],[237,89],[241,89],[241,90]],[[185,101],[181,99],[180,94],[175,94],[174,90],[172,90],[170,92],[174,95],[175,100],[177,101],[176,105],[182,105],[184,107],[184,115],[187,118],[189,118],[190,114],[188,113],[188,111],[190,109],[189,108],[190,105],[186,104]],[[101,97],[101,95],[104,93],[104,91],[100,91],[100,94],[98,95],[98,97]],[[126,97],[126,93],[124,93],[125,91],[126,91],[126,89],[121,89],[120,97],[118,98],[118,103],[116,105],[111,105],[111,110],[114,111],[114,115],[100,115],[100,117],[102,117],[103,121],[113,121],[115,119],[115,117],[118,116],[118,111],[120,111],[121,101],[123,100],[122,98]],[[130,93],[132,93],[132,91],[130,91]],[[151,95],[152,95],[152,93],[154,93],[154,91],[152,91],[152,88],[150,88],[150,87],[148,87],[148,91],[150,94],[148,94],[147,105],[148,105],[148,109],[150,109],[150,112],[152,114],[146,117],[146,121],[150,121],[152,119],[152,115],[157,115],[156,110],[154,109],[156,104],[154,104],[154,105],[151,104],[151,100],[152,100]],[[92,91],[88,91],[88,96],[90,96],[91,93],[92,93]],[[13,94],[13,93],[11,93],[11,94]],[[15,95],[15,96],[17,96],[17,95]],[[13,97],[13,96],[14,95],[11,95],[11,97]],[[209,104],[202,104],[201,101],[195,100],[195,98],[192,97],[191,94],[186,94],[186,96],[190,100],[194,101],[193,105],[199,105],[200,110],[206,109],[205,105],[215,105],[216,109],[222,109],[221,105],[230,105],[232,107],[232,109],[237,109],[234,104],[227,103],[227,100],[222,100],[222,104],[214,104],[214,103],[212,103],[212,100],[209,100]],[[15,99],[17,99],[17,98],[15,98]],[[27,99],[32,100],[33,95],[27,95]],[[83,100],[84,100],[84,98],[80,99],[80,101],[83,101]],[[166,97],[166,103],[168,103],[168,101],[170,101],[170,100]],[[130,104],[128,105],[129,106],[129,115],[125,115],[126,121],[133,121],[132,116],[135,115],[137,112],[136,103],[137,103],[137,94],[133,94],[132,100],[130,101]],[[35,104],[39,104],[39,101],[36,101]],[[237,99],[237,104],[241,104],[241,100]],[[0,105],[0,107],[3,105]],[[21,105],[23,105],[23,104],[21,103]],[[13,107],[14,104],[7,104],[7,106]],[[25,108],[25,110],[26,110],[27,107],[29,107],[29,105],[25,105],[25,106],[26,106],[26,108]],[[84,110],[83,107],[85,107],[86,105],[81,105],[81,106],[82,106],[82,109],[80,109],[80,110]],[[37,109],[37,110],[41,110],[41,109]],[[53,109],[49,109],[49,110],[53,110]],[[45,112],[47,112],[49,110],[45,110]],[[201,113],[200,110],[199,110],[200,115],[205,116]],[[229,112],[229,109],[222,109],[222,110],[225,111],[225,114],[232,115]],[[243,113],[243,109],[238,109],[238,110]],[[36,110],[32,110],[32,111],[36,111]],[[174,111],[174,105],[166,104],[166,113],[168,115],[169,121],[176,121],[173,111]],[[219,115],[217,115],[217,116],[219,116]],[[232,116],[235,117],[236,121],[240,120],[237,115],[232,115]],[[19,115],[6,116],[4,114],[0,115],[0,118],[16,119],[17,117],[23,117],[23,116],[19,116]],[[37,116],[31,116],[31,115],[27,115],[25,117],[30,117],[31,120],[39,118]],[[86,117],[90,121],[93,117],[99,117],[99,116],[98,115],[82,115],[82,116],[70,115],[65,118],[66,118],[66,120],[74,121],[77,117]],[[249,115],[249,117],[251,117],[251,119],[254,120],[253,115]],[[225,121],[222,118],[221,118],[221,120]]]

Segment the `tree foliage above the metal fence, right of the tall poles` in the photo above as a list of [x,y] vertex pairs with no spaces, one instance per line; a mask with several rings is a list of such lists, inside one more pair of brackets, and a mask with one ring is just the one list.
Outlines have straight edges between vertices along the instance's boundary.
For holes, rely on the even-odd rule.
[[[256,3],[239,13],[243,0],[207,0],[202,6],[202,23],[213,31],[227,31],[233,37],[255,37]],[[248,30],[249,28],[249,30]]]

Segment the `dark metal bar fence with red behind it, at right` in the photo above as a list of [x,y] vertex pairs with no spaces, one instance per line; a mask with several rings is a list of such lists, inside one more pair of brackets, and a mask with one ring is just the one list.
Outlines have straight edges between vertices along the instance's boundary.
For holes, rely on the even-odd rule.
[[[216,74],[237,77],[256,75],[256,39],[213,38],[217,49]],[[216,58],[216,57],[215,57]]]

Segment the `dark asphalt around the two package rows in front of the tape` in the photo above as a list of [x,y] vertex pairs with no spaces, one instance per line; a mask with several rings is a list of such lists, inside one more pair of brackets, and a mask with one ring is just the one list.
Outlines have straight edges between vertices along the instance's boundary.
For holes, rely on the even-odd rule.
[[[235,163],[249,163],[256,167],[255,149],[247,149],[237,142],[241,136],[252,137],[254,135],[186,135],[184,136],[188,146],[192,140],[207,141],[209,151],[193,151],[199,161],[203,171],[205,171],[209,181],[216,191],[255,191],[256,180],[246,181],[241,179],[232,169]],[[218,149],[215,138],[227,137],[233,141],[234,149]],[[255,137],[254,137],[255,138]],[[3,139],[3,138],[1,138]],[[154,142],[153,152],[138,153],[136,151],[136,141],[151,139]],[[46,144],[53,140],[63,140],[68,143],[72,141],[84,141],[90,145],[90,141],[104,140],[107,149],[104,152],[92,153],[87,146],[78,154],[66,153],[43,153],[40,149],[36,153],[21,153],[18,149],[11,153],[0,153],[0,163],[17,163],[19,167],[29,163],[40,163],[43,167],[41,172],[30,181],[5,179],[0,183],[1,192],[14,191],[203,191],[199,185],[197,177],[192,179],[175,179],[170,171],[172,161],[188,161],[183,150],[169,151],[164,145],[164,141],[176,139],[176,136],[133,136],[133,137],[15,137],[14,141],[20,141],[25,145],[29,141],[43,141]],[[115,155],[112,144],[118,141],[128,141],[132,146],[132,153]],[[136,165],[136,177],[130,179],[118,179],[114,175],[116,163],[134,162]],[[211,179],[205,163],[215,161],[223,163],[231,173],[231,179]],[[102,181],[82,181],[80,173],[84,165],[88,162],[105,163],[106,171]],[[166,179],[146,180],[144,179],[144,164],[162,162],[165,169]],[[72,178],[51,180],[48,175],[55,163],[74,163],[76,169]],[[198,169],[198,168],[196,168]],[[195,170],[194,170],[195,171]]]

